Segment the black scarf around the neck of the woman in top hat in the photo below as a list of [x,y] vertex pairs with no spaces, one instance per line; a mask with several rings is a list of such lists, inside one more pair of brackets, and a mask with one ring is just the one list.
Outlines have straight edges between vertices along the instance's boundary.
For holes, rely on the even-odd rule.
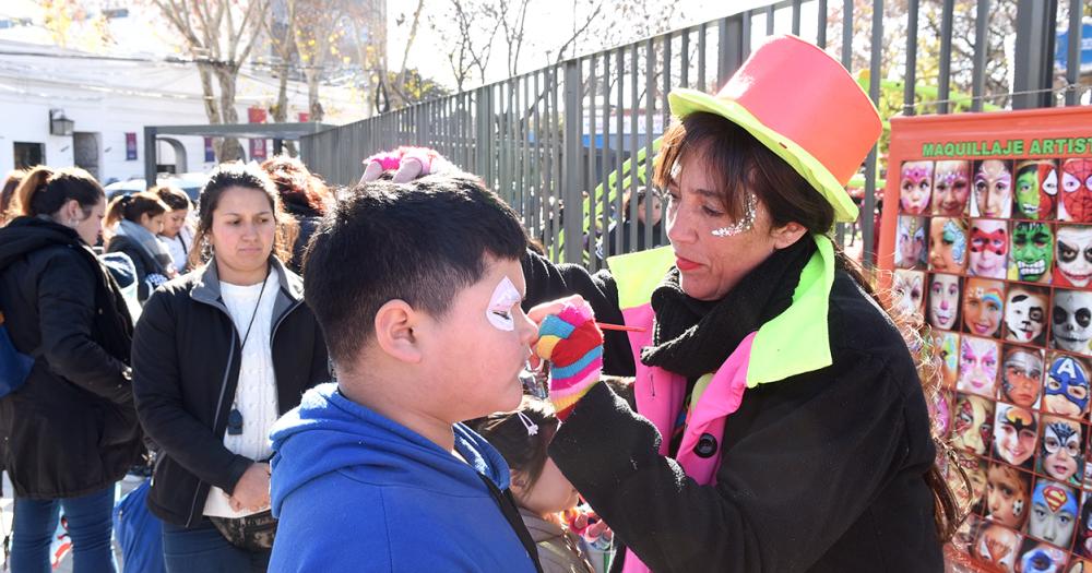
[[679,270],[672,267],[652,293],[653,345],[641,350],[641,362],[688,379],[715,372],[748,334],[788,309],[800,272],[815,251],[815,241],[802,237],[713,301],[682,293]]

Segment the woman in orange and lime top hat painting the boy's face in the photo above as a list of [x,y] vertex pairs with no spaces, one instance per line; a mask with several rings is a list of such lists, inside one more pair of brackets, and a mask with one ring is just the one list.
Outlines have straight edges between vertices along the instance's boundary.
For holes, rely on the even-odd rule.
[[[876,108],[792,36],[669,100],[670,247],[595,277],[524,264],[526,306],[581,295],[529,314],[565,420],[550,455],[626,546],[613,571],[940,571],[958,508],[915,359],[828,237],[857,217]],[[604,344],[596,320],[640,332]],[[636,374],[631,402],[604,372]]]

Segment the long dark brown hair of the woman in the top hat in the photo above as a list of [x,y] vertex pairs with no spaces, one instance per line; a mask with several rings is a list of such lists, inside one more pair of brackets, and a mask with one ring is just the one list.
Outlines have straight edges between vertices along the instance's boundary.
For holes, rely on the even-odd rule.
[[[720,181],[725,212],[740,220],[747,210],[747,193],[755,193],[770,214],[772,228],[790,223],[804,226],[809,234],[827,235],[834,227],[834,208],[804,177],[745,129],[715,114],[690,114],[675,121],[663,136],[663,147],[656,157],[653,183],[665,189],[675,164],[687,153],[701,153],[704,167]],[[868,215],[866,215],[868,216]],[[902,317],[873,287],[856,261],[834,244],[835,264],[871,297],[899,325],[907,347],[918,365],[918,374],[926,399],[931,404],[940,391],[939,360],[931,345],[925,344],[919,320]],[[887,299],[887,300],[885,300]],[[937,427],[936,423],[933,425]],[[951,449],[941,437],[934,434],[938,451],[946,457]],[[959,467],[958,464],[948,464]],[[965,474],[963,475],[966,481]],[[936,501],[936,529],[940,540],[948,541],[963,521],[963,515],[943,471],[937,462],[925,475]],[[968,487],[970,484],[966,482]]]

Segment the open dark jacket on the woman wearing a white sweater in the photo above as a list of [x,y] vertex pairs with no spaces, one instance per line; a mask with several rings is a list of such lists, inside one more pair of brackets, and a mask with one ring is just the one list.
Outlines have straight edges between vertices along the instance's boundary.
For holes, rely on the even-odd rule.
[[[270,344],[284,414],[330,373],[302,280],[272,261],[281,288]],[[256,462],[224,446],[241,338],[221,298],[215,262],[167,283],[144,306],[133,337],[133,391],[141,423],[161,447],[147,503],[166,522],[193,526],[210,486],[230,493]]]

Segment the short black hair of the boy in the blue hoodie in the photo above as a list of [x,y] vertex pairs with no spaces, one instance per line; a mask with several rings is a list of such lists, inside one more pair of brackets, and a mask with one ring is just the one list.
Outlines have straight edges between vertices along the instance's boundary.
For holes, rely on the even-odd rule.
[[334,362],[349,365],[388,301],[442,318],[485,274],[486,253],[519,260],[526,248],[519,215],[468,174],[361,183],[311,240],[305,298]]

